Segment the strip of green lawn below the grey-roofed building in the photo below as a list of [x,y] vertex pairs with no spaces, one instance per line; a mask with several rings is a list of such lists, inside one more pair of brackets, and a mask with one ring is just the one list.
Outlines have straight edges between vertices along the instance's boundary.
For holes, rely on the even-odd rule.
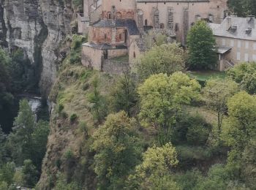
[[219,71],[192,71],[187,73],[189,77],[193,77],[196,80],[206,81],[210,78],[225,78],[226,72]]

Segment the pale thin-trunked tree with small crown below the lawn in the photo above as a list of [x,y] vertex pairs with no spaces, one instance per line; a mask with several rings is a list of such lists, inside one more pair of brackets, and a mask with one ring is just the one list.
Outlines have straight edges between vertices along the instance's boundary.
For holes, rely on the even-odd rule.
[[218,118],[218,136],[221,132],[223,116],[227,113],[227,99],[236,92],[238,92],[237,83],[220,78],[207,80],[206,87],[203,88],[204,101],[211,110],[214,110]]

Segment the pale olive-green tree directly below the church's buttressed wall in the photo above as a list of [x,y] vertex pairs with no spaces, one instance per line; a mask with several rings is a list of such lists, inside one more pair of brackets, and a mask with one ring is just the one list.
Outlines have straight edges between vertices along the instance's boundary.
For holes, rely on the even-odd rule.
[[186,57],[186,53],[178,44],[163,44],[152,47],[138,58],[135,68],[141,80],[159,73],[170,75],[184,70]]

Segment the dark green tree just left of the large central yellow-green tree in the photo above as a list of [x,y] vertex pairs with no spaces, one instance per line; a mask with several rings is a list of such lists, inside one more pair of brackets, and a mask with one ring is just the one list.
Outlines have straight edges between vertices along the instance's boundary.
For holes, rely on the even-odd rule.
[[129,116],[132,115],[132,107],[137,102],[135,81],[130,72],[125,72],[110,91],[110,107],[115,112],[124,110]]

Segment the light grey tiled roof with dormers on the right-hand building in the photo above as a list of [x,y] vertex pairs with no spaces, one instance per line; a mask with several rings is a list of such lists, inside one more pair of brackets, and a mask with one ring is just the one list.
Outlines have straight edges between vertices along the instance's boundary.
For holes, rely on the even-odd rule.
[[256,19],[227,17],[221,24],[208,23],[217,37],[256,40]]

